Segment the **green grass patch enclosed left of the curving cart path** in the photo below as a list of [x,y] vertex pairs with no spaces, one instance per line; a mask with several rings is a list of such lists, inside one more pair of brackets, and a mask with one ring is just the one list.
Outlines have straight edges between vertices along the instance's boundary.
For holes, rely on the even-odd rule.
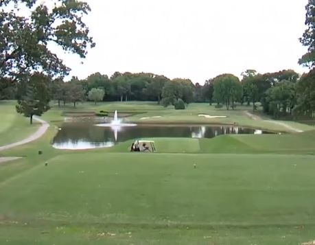
[[16,113],[14,102],[0,102],[0,146],[14,143],[32,135],[39,127],[30,119]]

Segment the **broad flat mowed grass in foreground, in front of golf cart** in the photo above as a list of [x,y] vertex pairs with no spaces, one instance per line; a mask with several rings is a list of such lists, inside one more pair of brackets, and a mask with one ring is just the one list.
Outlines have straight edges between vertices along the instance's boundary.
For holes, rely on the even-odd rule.
[[0,183],[0,244],[307,242],[315,238],[314,162],[273,154],[62,154]]

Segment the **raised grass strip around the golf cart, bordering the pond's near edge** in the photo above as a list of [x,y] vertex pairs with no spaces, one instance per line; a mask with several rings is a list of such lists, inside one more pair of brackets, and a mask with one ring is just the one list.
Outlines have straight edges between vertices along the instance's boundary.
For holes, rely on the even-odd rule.
[[[315,131],[284,135],[220,135],[213,139],[150,138],[157,153],[315,154]],[[95,152],[128,152],[132,141]]]

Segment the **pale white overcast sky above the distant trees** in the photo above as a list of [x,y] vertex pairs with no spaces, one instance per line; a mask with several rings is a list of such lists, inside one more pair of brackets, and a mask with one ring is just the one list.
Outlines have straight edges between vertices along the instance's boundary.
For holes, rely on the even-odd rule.
[[62,56],[71,75],[152,72],[194,83],[294,69],[305,53],[307,0],[86,0],[96,47],[84,64]]

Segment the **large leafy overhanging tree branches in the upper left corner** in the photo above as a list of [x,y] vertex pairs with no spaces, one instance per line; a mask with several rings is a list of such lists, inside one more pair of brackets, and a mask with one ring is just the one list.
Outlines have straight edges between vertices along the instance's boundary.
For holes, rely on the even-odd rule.
[[[0,1],[0,78],[20,80],[21,75],[34,71],[65,75],[69,68],[51,52],[49,45],[81,58],[95,45],[82,19],[90,11],[89,5],[77,0],[54,2],[49,8],[39,0]],[[22,14],[20,8],[29,11]]]

